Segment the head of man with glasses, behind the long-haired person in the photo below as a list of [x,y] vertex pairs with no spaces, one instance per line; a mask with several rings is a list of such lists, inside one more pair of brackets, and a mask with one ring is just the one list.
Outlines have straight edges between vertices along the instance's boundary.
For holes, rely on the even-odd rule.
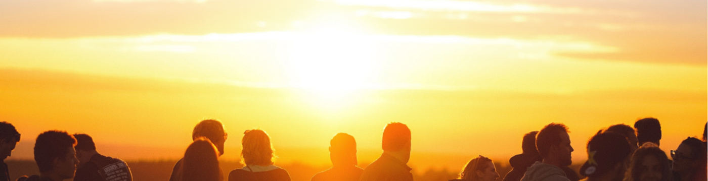
[[219,156],[224,154],[224,142],[226,142],[229,134],[224,132],[224,124],[217,119],[204,119],[194,127],[192,131],[192,140],[199,137],[206,137],[214,146],[219,149]]

